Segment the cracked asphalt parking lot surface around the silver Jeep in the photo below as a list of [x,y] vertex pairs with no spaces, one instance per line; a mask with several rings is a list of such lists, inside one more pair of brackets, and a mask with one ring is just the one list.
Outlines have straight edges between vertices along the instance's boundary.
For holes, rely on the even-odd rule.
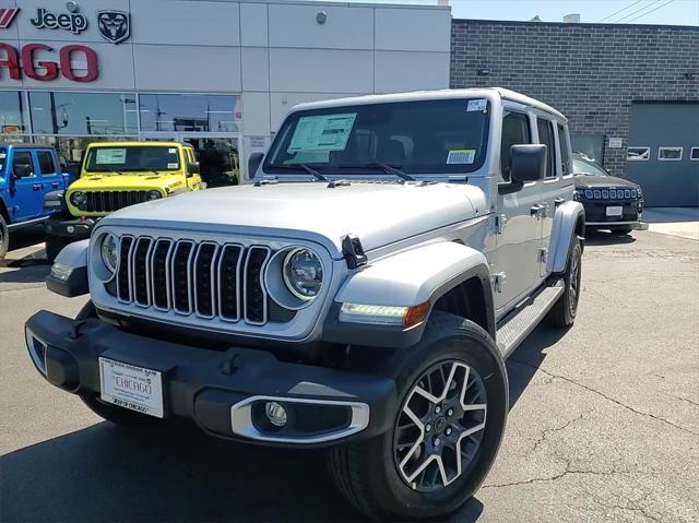
[[[0,520],[359,521],[322,456],[212,439],[179,424],[102,421],[36,373],[23,324],[75,314],[46,290],[36,233],[0,268]],[[453,521],[699,518],[699,242],[588,240],[578,320],[540,326],[508,361],[497,462]]]

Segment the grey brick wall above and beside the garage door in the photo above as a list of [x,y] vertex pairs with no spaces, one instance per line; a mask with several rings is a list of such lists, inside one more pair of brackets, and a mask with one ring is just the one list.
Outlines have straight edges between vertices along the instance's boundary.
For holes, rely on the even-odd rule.
[[[479,75],[477,70],[489,69]],[[632,102],[699,99],[699,27],[453,20],[452,87],[507,87],[560,110],[576,132],[605,134],[623,175]],[[608,138],[623,139],[609,148]]]

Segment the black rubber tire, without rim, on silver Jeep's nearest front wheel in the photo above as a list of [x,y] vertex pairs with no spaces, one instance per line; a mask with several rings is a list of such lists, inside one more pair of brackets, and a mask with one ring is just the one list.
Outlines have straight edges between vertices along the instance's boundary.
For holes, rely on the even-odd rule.
[[[407,395],[423,373],[442,361],[466,364],[482,377],[486,394],[485,427],[463,474],[440,490],[419,492],[408,487],[394,454],[395,423]],[[369,440],[330,449],[330,474],[345,498],[378,521],[438,519],[459,509],[481,486],[497,455],[508,413],[507,371],[493,338],[472,321],[434,311],[423,340],[395,350],[381,366],[395,381],[398,412],[391,429]]]

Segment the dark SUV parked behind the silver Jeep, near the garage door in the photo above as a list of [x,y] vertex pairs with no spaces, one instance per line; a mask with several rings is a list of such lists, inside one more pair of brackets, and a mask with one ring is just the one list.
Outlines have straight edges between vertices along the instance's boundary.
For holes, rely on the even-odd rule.
[[638,183],[612,176],[593,158],[572,154],[576,198],[585,207],[588,230],[606,229],[626,235],[637,228],[643,212]]

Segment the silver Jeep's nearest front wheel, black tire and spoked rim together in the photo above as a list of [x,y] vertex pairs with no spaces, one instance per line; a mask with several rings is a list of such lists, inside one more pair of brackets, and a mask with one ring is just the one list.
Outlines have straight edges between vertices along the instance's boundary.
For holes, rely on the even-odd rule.
[[500,445],[508,384],[499,350],[475,323],[434,311],[423,340],[381,373],[395,380],[394,425],[332,449],[331,475],[377,520],[445,516],[477,490]]

